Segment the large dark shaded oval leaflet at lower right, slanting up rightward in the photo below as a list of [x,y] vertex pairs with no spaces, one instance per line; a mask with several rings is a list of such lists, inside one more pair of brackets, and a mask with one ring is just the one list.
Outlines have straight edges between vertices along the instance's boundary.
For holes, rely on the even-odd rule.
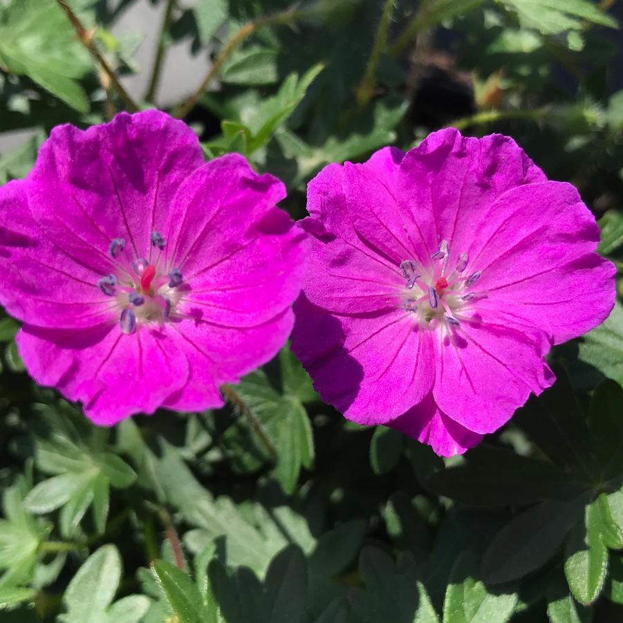
[[548,501],[523,511],[500,530],[483,556],[483,580],[512,582],[545,564],[584,511],[584,497]]

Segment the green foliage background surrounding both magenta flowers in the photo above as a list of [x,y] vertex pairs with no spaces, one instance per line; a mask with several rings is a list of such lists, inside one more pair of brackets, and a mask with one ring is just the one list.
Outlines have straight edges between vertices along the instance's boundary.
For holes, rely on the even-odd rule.
[[[0,2],[0,183],[56,124],[159,106],[206,158],[281,177],[299,218],[327,162],[454,125],[575,184],[623,270],[621,3],[151,0],[145,66],[140,27],[113,32],[135,4]],[[180,42],[201,68],[184,93],[162,79]],[[620,302],[552,353],[555,387],[449,460],[343,420],[287,347],[220,411],[99,429],[29,380],[17,329],[0,316],[2,622],[623,620]]]

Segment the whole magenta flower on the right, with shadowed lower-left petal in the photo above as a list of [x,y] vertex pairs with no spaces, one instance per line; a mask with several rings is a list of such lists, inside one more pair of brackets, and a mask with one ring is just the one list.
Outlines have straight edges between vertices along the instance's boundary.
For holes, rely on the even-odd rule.
[[510,138],[448,129],[325,167],[293,350],[346,418],[460,454],[554,381],[544,355],[606,318],[614,267],[573,186]]

